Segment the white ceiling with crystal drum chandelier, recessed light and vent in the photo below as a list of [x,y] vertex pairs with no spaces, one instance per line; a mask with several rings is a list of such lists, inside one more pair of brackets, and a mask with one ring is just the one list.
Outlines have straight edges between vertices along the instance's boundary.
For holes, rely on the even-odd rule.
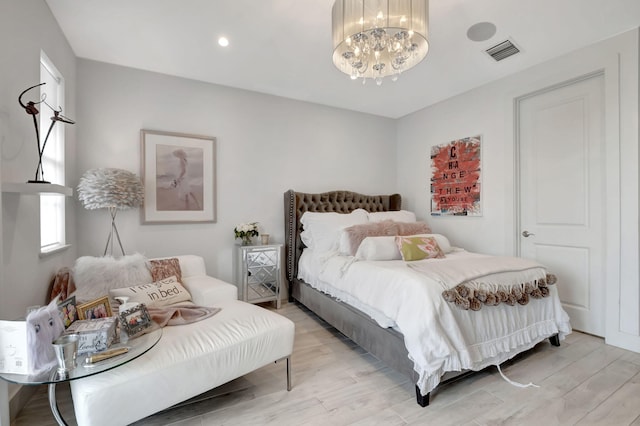
[[[391,118],[640,26],[638,0],[431,0],[426,59],[376,86],[331,62],[333,0],[46,2],[80,58]],[[469,40],[478,22],[496,34]],[[521,53],[484,52],[507,38]]]

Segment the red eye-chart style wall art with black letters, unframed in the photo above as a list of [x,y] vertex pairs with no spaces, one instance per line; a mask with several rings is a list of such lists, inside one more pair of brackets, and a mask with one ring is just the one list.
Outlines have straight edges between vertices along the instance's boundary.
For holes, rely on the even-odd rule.
[[472,136],[431,148],[431,215],[481,216],[480,141]]

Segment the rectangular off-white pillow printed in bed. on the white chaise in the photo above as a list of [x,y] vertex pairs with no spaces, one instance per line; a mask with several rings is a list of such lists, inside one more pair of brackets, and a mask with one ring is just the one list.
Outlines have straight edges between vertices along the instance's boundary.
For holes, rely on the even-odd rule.
[[127,303],[144,303],[149,308],[160,308],[191,301],[191,294],[178,282],[176,277],[169,277],[150,284],[114,288],[109,290],[109,295],[113,298],[125,296],[129,298]]

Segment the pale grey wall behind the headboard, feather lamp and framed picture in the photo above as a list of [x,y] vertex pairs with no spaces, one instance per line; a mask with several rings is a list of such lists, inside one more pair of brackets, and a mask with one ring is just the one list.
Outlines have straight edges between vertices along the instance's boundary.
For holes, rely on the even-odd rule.
[[[78,176],[140,174],[140,129],[217,138],[217,223],[142,225],[139,210],[122,211],[127,253],[202,255],[231,280],[234,226],[257,221],[282,243],[286,190],[396,190],[391,119],[88,60],[78,60],[78,93]],[[78,254],[102,255],[109,216],[76,203]]]

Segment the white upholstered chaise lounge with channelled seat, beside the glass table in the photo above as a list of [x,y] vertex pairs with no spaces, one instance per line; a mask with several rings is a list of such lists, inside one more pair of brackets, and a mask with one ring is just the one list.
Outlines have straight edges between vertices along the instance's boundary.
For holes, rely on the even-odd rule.
[[237,299],[236,287],[206,275],[199,256],[177,256],[197,305],[222,308],[206,320],[168,326],[141,357],[71,382],[78,425],[126,425],[197,396],[271,362],[290,360],[294,324]]

